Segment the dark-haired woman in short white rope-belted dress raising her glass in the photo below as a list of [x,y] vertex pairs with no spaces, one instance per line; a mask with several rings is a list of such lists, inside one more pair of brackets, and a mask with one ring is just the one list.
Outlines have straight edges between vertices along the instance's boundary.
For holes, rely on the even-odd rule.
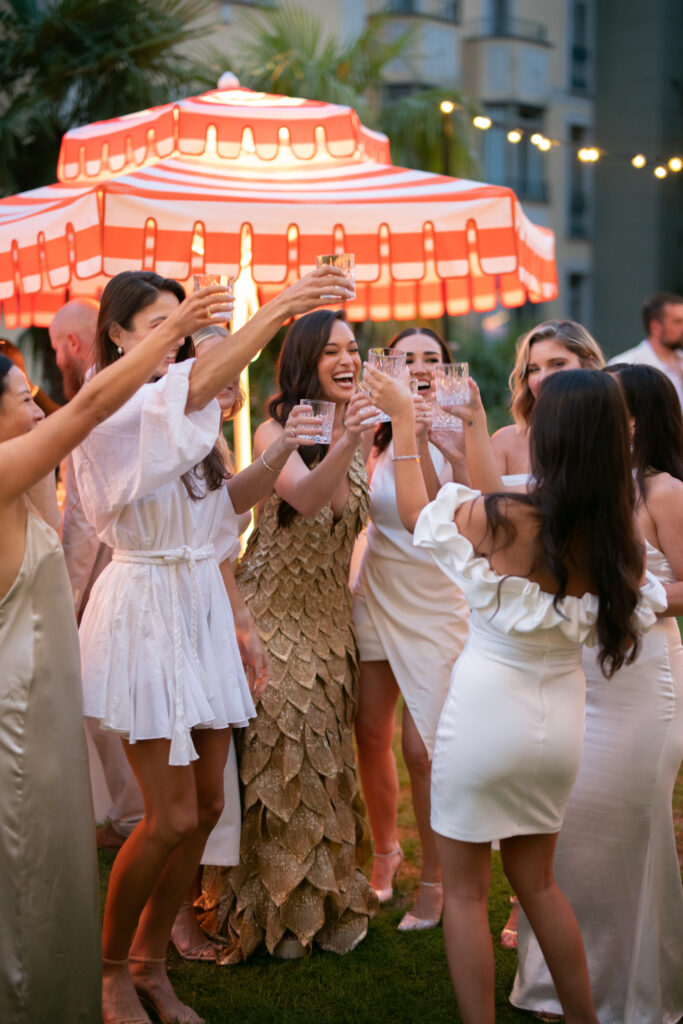
[[[283,319],[323,292],[348,295],[340,275],[313,271],[204,359],[187,358],[191,339],[178,335],[150,383],[74,454],[85,514],[114,549],[81,624],[84,711],[122,735],[145,808],[110,877],[105,1024],[145,1022],[138,994],[163,1020],[200,1020],[173,991],[166,949],[222,808],[231,726],[254,713],[214,541],[223,517],[254,504],[299,443],[294,413],[263,458],[226,480],[213,398]],[[102,294],[95,370],[134,351],[182,295],[158,274],[114,278]]]

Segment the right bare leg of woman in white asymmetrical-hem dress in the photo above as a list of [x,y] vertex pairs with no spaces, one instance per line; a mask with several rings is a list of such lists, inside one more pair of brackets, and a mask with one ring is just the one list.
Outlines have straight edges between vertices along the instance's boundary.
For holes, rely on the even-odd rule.
[[[422,844],[422,873],[415,905],[411,911],[418,920],[438,922],[441,916],[443,891],[436,838],[429,823],[431,762],[413,716],[403,706],[402,751],[411,776],[413,809]],[[401,922],[402,924],[402,922]],[[400,926],[399,926],[400,927]]]

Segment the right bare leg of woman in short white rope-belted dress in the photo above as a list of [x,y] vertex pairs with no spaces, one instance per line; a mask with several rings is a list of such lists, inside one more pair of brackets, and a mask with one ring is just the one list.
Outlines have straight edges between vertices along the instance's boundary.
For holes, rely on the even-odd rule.
[[175,994],[166,973],[166,948],[178,907],[223,808],[223,769],[230,730],[198,729],[193,739],[200,755],[191,765],[198,825],[168,858],[144,905],[131,950],[131,976],[135,988],[150,999],[161,1017],[178,1024],[199,1024],[201,1018]]

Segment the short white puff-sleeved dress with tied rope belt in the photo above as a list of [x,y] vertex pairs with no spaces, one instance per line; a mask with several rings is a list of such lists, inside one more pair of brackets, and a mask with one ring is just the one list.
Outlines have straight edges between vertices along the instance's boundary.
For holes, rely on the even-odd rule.
[[74,453],[86,516],[114,549],[81,623],[84,714],[104,728],[171,740],[197,757],[194,728],[254,715],[214,542],[231,512],[224,486],[193,500],[180,479],[213,447],[215,401],[185,414],[193,360],[143,385]]

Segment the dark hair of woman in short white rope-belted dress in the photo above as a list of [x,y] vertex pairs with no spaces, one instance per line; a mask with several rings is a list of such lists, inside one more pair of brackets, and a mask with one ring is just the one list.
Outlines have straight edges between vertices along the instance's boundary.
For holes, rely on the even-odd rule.
[[[116,342],[110,331],[115,324],[124,331],[131,331],[137,313],[156,301],[160,292],[170,292],[178,302],[185,298],[185,290],[172,278],[162,278],[151,270],[124,270],[108,282],[99,304],[97,333],[95,335],[95,371],[103,370],[119,358]],[[182,362],[195,355],[191,338],[185,338],[175,357]],[[199,501],[204,492],[198,486],[198,478],[204,479],[207,490],[217,490],[226,478],[225,465],[217,444],[197,466],[183,473],[180,479],[187,495]]]

